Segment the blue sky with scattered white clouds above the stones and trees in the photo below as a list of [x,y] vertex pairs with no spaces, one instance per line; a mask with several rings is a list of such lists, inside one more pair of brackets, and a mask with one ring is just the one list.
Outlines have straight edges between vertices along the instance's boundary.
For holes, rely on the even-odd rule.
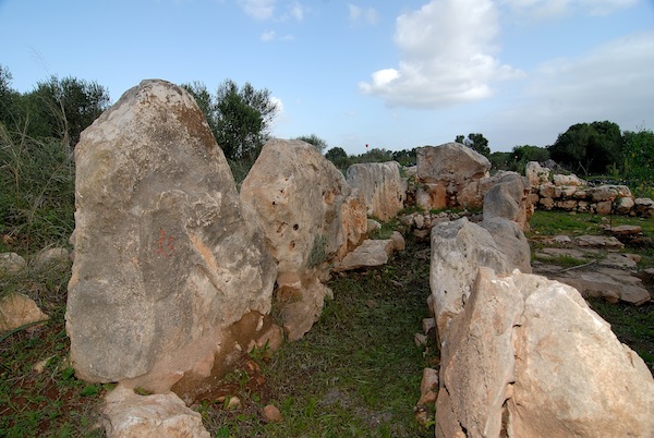
[[142,80],[268,89],[271,134],[350,155],[576,123],[654,127],[654,0],[0,0],[0,64],[117,101]]

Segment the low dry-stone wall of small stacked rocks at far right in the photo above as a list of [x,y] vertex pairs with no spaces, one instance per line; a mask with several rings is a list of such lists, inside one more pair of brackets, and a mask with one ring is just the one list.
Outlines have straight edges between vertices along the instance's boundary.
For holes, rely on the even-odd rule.
[[535,161],[526,165],[525,175],[532,187],[530,200],[536,208],[604,216],[616,214],[650,218],[654,215],[654,200],[634,197],[626,185],[591,186],[574,174],[553,174]]

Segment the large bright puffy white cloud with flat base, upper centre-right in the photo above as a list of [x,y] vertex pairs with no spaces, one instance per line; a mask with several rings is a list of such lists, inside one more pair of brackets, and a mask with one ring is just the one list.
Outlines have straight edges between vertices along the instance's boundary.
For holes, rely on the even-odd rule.
[[491,0],[432,0],[397,19],[399,68],[373,73],[360,90],[389,106],[414,108],[488,97],[494,81],[524,75],[494,57],[498,31]]

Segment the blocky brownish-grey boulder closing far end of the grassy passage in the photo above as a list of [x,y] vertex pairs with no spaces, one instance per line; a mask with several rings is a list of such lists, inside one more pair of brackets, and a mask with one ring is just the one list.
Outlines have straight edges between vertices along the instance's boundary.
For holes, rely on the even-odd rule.
[[479,184],[491,169],[486,157],[460,143],[419,147],[416,160],[416,204],[427,210],[467,207],[458,200],[457,194],[470,184]]

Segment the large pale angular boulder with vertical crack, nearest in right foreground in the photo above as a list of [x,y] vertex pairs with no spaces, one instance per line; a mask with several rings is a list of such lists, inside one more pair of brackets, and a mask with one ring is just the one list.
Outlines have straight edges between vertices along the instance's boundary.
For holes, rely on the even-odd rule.
[[646,365],[568,285],[482,267],[441,345],[437,437],[654,430]]

